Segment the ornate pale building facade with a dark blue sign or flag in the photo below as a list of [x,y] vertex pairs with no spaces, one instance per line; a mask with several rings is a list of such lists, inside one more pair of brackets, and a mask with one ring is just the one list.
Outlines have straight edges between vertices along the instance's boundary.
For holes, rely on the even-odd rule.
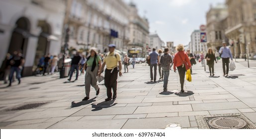
[[63,30],[70,30],[70,49],[106,53],[110,43],[118,52],[127,48],[130,9],[123,0],[68,0],[67,5]]

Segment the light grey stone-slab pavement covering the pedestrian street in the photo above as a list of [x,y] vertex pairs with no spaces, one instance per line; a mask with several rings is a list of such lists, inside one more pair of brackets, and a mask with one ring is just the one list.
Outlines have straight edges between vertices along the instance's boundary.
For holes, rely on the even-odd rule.
[[[168,91],[163,92],[162,81],[150,82],[149,66],[129,66],[129,73],[118,77],[117,99],[109,102],[104,101],[102,82],[98,96],[91,88],[90,99],[82,101],[84,75],[75,82],[59,79],[57,73],[24,77],[20,85],[0,84],[0,129],[165,129],[170,123],[198,129],[195,116],[237,113],[256,124],[256,68],[236,66],[231,77],[223,77],[221,62],[215,64],[215,77],[209,77],[208,68],[204,71],[198,63],[193,66],[192,82],[185,81],[181,94],[178,73],[173,70]],[[48,103],[11,111],[41,102]]]

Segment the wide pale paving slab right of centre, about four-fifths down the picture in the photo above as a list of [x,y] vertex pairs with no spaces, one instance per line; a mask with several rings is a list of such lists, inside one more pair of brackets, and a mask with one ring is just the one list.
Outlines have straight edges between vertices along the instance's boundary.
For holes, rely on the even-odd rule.
[[145,106],[138,107],[134,114],[144,113],[169,113],[169,112],[181,112],[192,111],[191,105],[169,105],[169,106]]

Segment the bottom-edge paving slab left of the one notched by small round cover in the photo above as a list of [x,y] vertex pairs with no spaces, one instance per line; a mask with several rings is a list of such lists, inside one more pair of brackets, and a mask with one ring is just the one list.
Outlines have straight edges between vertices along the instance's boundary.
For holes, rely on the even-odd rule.
[[49,129],[121,129],[127,119],[62,121]]

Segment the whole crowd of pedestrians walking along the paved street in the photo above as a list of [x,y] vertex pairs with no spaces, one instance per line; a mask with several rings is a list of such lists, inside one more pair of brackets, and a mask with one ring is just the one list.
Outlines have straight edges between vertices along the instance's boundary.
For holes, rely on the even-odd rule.
[[[110,101],[112,99],[116,99],[117,97],[117,78],[118,75],[122,76],[122,63],[120,54],[115,52],[115,45],[110,44],[108,46],[109,52],[105,55],[98,54],[98,50],[96,48],[90,48],[89,55],[85,57],[80,53],[76,53],[71,61],[71,70],[69,73],[68,80],[71,81],[73,73],[76,70],[76,79],[78,80],[79,71],[81,74],[85,74],[85,98],[83,101],[89,99],[90,86],[92,86],[96,95],[99,94],[99,86],[97,84],[97,76],[100,76],[105,68],[104,72],[104,85],[106,87],[107,98],[105,101]],[[148,61],[150,65],[150,81],[156,82],[157,80],[157,67],[159,69],[160,80],[164,81],[163,88],[164,91],[168,90],[168,79],[170,75],[170,70],[173,66],[173,71],[178,71],[179,74],[179,82],[180,82],[180,92],[184,92],[184,78],[187,70],[190,70],[192,73],[192,66],[196,64],[196,62],[201,62],[202,66],[204,66],[204,59],[206,60],[206,64],[209,67],[210,76],[214,76],[214,62],[217,63],[219,57],[222,58],[223,64],[223,76],[228,76],[229,73],[229,60],[233,60],[230,49],[227,47],[226,43],[223,42],[223,47],[220,48],[219,52],[213,52],[211,48],[208,49],[206,56],[203,53],[201,55],[193,55],[190,53],[190,50],[184,50],[183,45],[179,44],[176,47],[176,53],[170,53],[168,48],[163,50],[158,50],[153,48],[153,51],[148,56]],[[37,69],[41,69],[43,71],[43,75],[49,71],[51,74],[54,73],[57,67],[62,68],[59,65],[59,60],[57,56],[50,56],[49,54],[42,57],[39,60],[39,64]],[[130,58],[125,55],[124,56],[124,71],[128,72],[128,66]],[[134,68],[135,65],[135,57],[132,58],[132,65]],[[13,55],[7,54],[4,64],[5,64],[5,74],[4,74],[4,83],[7,83],[7,77],[9,80],[9,85],[14,80],[13,74],[16,72],[16,78],[18,79],[18,84],[21,82],[21,70],[24,65],[24,58],[20,52],[15,51]],[[154,71],[153,71],[154,68]],[[153,73],[154,72],[154,73]],[[113,91],[113,92],[112,92]]]

